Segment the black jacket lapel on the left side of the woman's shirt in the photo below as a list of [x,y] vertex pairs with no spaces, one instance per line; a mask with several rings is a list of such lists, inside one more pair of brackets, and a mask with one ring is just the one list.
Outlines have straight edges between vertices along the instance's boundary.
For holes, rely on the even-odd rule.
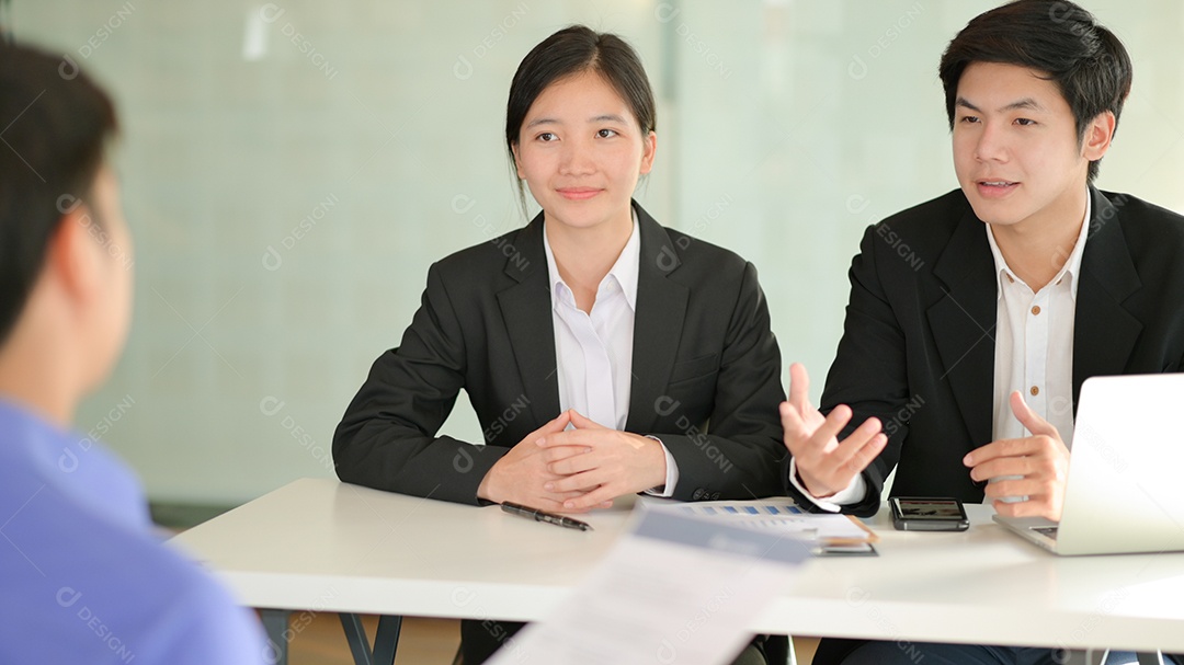
[[559,376],[547,256],[542,248],[542,214],[519,231],[502,251],[509,256],[506,275],[517,284],[498,292],[497,304],[513,341],[510,348],[522,379],[522,393],[530,400],[535,421],[546,422],[559,414]]

